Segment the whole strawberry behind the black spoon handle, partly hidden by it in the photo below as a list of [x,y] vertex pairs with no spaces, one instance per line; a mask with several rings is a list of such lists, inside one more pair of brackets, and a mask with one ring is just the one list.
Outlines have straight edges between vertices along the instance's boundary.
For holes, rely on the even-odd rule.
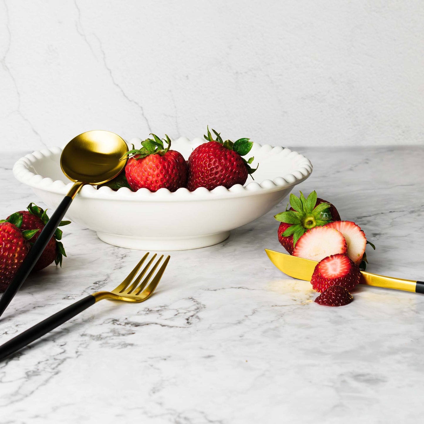
[[[45,210],[36,204],[33,204],[32,202],[28,205],[27,209],[28,210],[26,211],[19,211],[16,213],[22,215],[22,225],[20,227],[22,231],[35,229],[40,230],[36,232],[33,237],[31,237],[31,239],[28,239],[28,241],[32,244],[35,242],[35,240],[37,240],[41,230],[47,224],[49,217],[47,216]],[[70,223],[71,221],[61,221],[59,226],[68,225]],[[63,244],[61,241],[59,241],[61,238],[62,230],[58,228],[56,229],[53,237],[50,239],[31,272],[40,271],[53,262],[55,262],[56,265],[62,266],[62,259],[64,256],[66,256],[66,253]]]

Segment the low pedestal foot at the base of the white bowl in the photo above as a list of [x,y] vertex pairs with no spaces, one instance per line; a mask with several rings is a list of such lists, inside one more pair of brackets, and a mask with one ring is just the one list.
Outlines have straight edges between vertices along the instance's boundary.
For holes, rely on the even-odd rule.
[[134,237],[97,232],[100,240],[127,249],[148,251],[188,250],[221,243],[230,235],[229,231],[185,237]]

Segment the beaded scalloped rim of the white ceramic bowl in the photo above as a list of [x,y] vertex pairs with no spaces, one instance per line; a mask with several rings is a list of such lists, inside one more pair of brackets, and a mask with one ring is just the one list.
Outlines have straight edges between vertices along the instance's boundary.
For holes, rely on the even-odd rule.
[[[181,139],[189,142],[189,140],[184,137],[180,137],[178,141]],[[194,144],[195,142],[198,142],[198,140],[199,139],[193,139],[190,143]],[[198,187],[196,190],[191,192],[187,190],[187,188],[181,187],[175,192],[170,192],[167,188],[161,188],[156,192],[151,192],[146,188],[142,188],[133,192],[126,187],[121,187],[119,190],[114,191],[110,187],[104,186],[100,187],[98,190],[94,186],[86,184],[81,189],[78,196],[81,198],[126,201],[195,201],[212,200],[215,198],[233,198],[283,190],[299,184],[301,181],[307,179],[312,173],[313,167],[309,159],[296,151],[292,151],[287,147],[273,147],[268,144],[260,145],[256,142],[254,145],[256,147],[255,150],[260,150],[262,153],[284,156],[291,155],[293,159],[297,158],[299,160],[297,169],[292,173],[276,177],[273,180],[265,179],[261,181],[261,183],[251,181],[244,186],[241,184],[235,184],[229,189],[223,186],[216,187],[213,190],[207,190],[205,187]],[[62,180],[53,181],[53,179],[49,177],[42,177],[39,174],[34,174],[28,169],[31,164],[36,163],[38,160],[42,159],[42,157],[58,155],[61,151],[62,148],[56,146],[34,151],[33,153],[23,156],[17,160],[12,169],[15,178],[33,189],[66,195],[70,187],[72,187],[73,182],[65,183]],[[64,178],[66,178],[65,175]],[[250,178],[250,176],[248,178]]]

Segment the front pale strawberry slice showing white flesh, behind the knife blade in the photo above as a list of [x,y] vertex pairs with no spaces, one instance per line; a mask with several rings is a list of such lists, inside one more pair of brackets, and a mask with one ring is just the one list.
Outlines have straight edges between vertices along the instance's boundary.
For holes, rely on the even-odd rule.
[[314,227],[300,237],[293,256],[320,261],[329,255],[346,253],[347,245],[341,232],[328,226]]

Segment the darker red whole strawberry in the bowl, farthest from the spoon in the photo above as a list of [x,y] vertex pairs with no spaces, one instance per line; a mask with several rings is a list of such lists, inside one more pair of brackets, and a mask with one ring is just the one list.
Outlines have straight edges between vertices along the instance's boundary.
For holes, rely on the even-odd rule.
[[204,136],[208,142],[196,147],[188,158],[187,188],[190,191],[198,187],[212,190],[218,186],[226,188],[234,184],[244,184],[252,169],[250,164],[253,157],[246,161],[242,156],[247,155],[253,143],[248,138],[240,138],[236,142],[225,142],[214,129],[216,140],[208,127],[208,135]]

